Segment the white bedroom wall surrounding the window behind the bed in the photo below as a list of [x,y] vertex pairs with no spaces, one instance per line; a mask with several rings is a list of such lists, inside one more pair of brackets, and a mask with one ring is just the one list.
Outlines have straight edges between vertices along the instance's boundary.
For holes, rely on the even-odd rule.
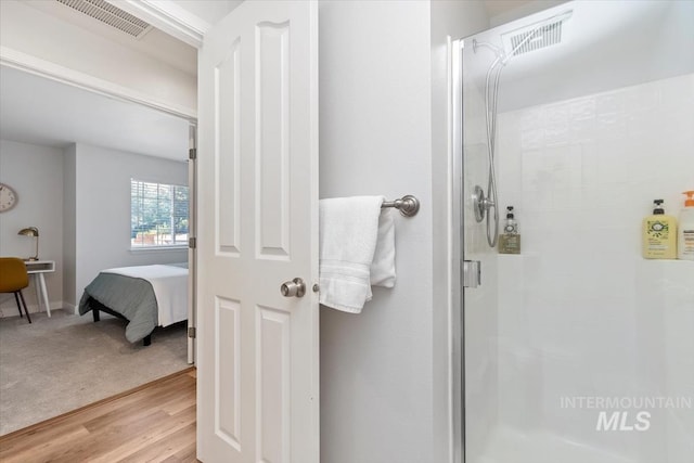
[[[77,143],[75,297],[100,270],[188,260],[188,248],[130,250],[130,179],[188,184],[188,163]],[[107,207],[104,207],[107,206]]]

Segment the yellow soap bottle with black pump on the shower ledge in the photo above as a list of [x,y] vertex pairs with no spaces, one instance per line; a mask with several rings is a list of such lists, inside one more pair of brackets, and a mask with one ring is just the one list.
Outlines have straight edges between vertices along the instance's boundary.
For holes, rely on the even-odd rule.
[[663,200],[655,200],[653,215],[643,219],[642,254],[644,259],[677,258],[677,220],[665,214]]

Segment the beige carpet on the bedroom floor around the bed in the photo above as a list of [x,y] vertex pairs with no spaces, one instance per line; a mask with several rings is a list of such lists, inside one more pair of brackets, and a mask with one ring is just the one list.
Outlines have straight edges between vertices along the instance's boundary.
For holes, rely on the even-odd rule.
[[125,321],[65,310],[0,319],[0,435],[185,369],[185,322],[130,344]]

